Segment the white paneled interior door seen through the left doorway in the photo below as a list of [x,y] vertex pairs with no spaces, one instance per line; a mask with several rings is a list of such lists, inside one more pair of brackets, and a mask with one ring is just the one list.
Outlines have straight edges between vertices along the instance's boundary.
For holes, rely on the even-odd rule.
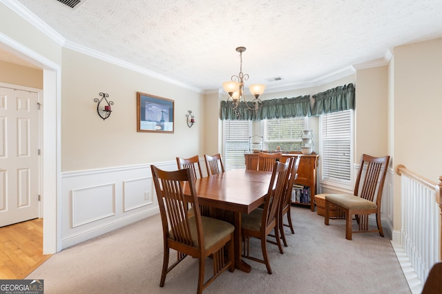
[[39,217],[38,102],[0,87],[0,227]]

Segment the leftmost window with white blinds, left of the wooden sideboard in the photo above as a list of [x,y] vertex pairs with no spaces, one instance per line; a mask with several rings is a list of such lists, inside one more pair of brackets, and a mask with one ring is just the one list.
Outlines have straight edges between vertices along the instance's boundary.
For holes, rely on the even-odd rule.
[[245,169],[244,152],[249,151],[250,120],[223,120],[224,166],[226,169]]

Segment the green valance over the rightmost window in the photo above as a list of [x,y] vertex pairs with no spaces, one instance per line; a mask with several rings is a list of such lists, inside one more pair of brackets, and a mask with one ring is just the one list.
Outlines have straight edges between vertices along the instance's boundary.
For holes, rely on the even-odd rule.
[[355,109],[354,93],[354,85],[350,83],[313,95],[314,105],[311,115],[319,116],[320,114]]

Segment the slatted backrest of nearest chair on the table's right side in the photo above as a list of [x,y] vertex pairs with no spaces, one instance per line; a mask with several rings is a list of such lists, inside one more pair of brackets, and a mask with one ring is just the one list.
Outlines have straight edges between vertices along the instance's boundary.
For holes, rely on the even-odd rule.
[[267,228],[278,216],[280,198],[286,191],[287,177],[289,176],[290,158],[285,162],[275,162],[269,183],[269,190],[265,196],[264,211],[262,213],[262,228]]

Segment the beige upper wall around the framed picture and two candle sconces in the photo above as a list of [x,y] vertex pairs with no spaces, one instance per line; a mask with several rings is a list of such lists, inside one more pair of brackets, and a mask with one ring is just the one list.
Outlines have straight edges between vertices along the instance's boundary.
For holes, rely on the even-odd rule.
[[[138,72],[64,49],[61,91],[62,171],[175,160],[204,153],[202,95]],[[99,92],[113,101],[111,116],[97,114]],[[136,94],[175,101],[175,132],[137,132]],[[192,110],[198,123],[189,128]]]

